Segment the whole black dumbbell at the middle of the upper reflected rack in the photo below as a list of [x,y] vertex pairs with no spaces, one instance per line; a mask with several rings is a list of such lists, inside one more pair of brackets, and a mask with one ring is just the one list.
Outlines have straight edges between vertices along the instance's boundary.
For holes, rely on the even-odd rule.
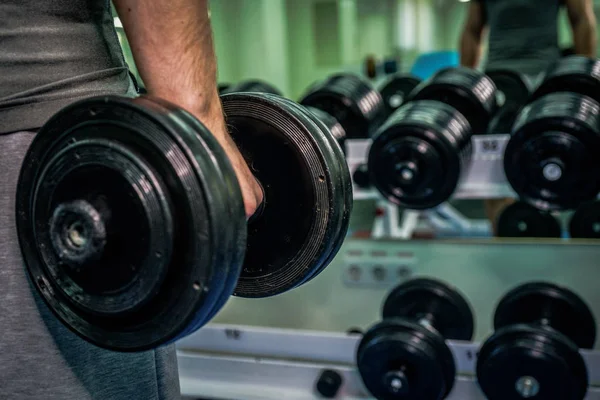
[[377,131],[368,156],[371,182],[406,208],[448,200],[470,163],[471,136],[485,131],[495,107],[495,86],[485,74],[439,72]]

